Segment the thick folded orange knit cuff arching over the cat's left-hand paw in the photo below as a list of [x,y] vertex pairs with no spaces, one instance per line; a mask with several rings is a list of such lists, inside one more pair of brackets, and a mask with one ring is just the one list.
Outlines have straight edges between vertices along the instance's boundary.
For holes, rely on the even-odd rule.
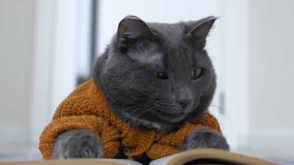
[[104,149],[104,158],[114,158],[118,154],[120,138],[117,129],[109,125],[101,117],[82,115],[62,117],[52,122],[45,127],[40,136],[39,150],[44,160],[49,160],[52,157],[53,145],[59,133],[71,129],[87,128],[95,133],[101,139]]

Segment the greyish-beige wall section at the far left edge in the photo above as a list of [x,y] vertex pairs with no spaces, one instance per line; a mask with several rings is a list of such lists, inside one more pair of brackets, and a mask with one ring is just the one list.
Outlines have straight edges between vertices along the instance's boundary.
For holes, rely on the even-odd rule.
[[27,141],[34,0],[0,0],[0,145]]

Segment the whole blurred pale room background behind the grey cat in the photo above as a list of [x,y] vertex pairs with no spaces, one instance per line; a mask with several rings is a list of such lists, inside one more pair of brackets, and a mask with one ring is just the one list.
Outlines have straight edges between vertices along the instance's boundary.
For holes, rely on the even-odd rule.
[[40,158],[56,107],[91,77],[129,14],[165,23],[220,16],[206,46],[218,75],[211,113],[232,151],[293,159],[293,8],[293,0],[0,0],[0,159]]

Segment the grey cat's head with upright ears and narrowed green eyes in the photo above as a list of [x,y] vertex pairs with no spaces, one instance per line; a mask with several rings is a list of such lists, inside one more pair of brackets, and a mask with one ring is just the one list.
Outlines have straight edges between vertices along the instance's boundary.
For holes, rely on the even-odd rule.
[[204,47],[216,19],[167,24],[124,18],[93,72],[113,111],[130,124],[163,129],[206,111],[216,76]]

